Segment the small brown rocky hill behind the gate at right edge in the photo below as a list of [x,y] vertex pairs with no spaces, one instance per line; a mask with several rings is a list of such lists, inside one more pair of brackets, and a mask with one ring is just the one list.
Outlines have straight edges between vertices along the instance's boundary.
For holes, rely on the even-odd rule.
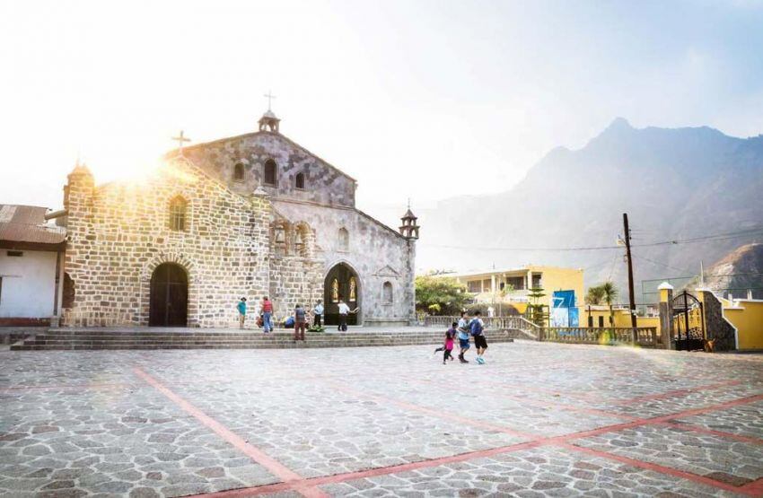
[[706,270],[705,284],[724,289],[726,296],[763,299],[763,244],[746,244]]

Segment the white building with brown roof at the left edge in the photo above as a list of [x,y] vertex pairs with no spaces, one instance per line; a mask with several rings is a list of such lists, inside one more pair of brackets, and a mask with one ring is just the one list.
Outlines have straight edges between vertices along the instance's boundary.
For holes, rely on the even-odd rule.
[[66,230],[50,217],[45,207],[0,205],[0,326],[57,324]]

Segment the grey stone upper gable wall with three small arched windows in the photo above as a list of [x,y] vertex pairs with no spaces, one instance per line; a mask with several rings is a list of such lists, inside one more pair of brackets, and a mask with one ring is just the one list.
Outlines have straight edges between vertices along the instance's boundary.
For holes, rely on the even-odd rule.
[[[247,196],[262,187],[268,196],[311,201],[326,205],[355,205],[355,179],[295,144],[284,135],[258,132],[206,144],[191,145],[183,153],[197,167],[220,179],[236,193]],[[277,166],[276,187],[263,182],[265,162]],[[235,165],[244,167],[242,181],[234,179]],[[305,185],[296,188],[303,173]]]

